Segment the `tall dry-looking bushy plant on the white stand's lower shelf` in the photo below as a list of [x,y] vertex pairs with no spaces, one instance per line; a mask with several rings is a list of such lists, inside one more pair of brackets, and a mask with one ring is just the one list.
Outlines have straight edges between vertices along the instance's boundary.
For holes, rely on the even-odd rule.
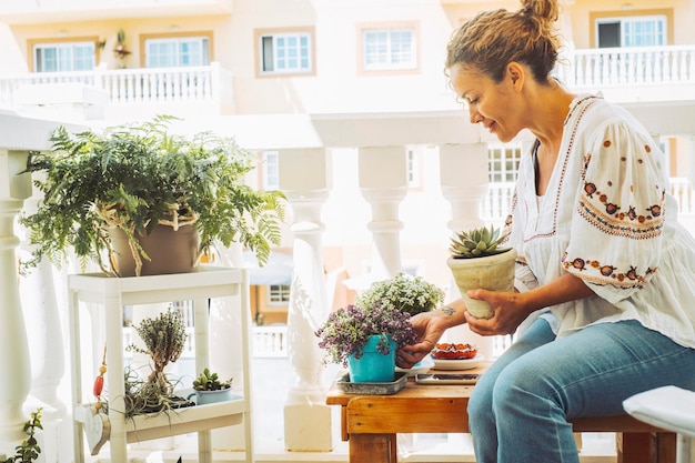
[[174,395],[174,385],[164,372],[170,362],[179,360],[185,346],[188,334],[181,312],[170,306],[158,316],[144,319],[134,330],[144,348],[130,344],[125,349],[148,355],[152,363],[145,380],[131,369],[124,372],[125,415],[187,405],[185,399]]

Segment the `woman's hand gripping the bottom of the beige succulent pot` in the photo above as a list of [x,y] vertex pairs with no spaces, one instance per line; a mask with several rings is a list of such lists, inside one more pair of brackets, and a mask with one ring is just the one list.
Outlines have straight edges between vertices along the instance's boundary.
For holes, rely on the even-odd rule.
[[486,301],[494,312],[491,319],[476,319],[469,312],[465,313],[471,331],[483,336],[496,334],[512,334],[518,325],[528,316],[528,312],[521,303],[517,292],[495,292],[483,289],[469,291],[471,299]]

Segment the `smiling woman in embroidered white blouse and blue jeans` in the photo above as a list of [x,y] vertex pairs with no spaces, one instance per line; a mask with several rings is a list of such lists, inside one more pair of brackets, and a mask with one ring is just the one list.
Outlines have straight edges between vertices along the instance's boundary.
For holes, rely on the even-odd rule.
[[472,123],[536,141],[521,162],[507,228],[516,291],[474,290],[494,316],[459,300],[413,318],[424,358],[451,326],[517,341],[469,404],[476,461],[578,462],[568,419],[623,414],[624,399],[695,389],[695,240],[678,224],[664,154],[626,111],[568,92],[557,59],[556,0],[479,14],[457,30],[446,70]]

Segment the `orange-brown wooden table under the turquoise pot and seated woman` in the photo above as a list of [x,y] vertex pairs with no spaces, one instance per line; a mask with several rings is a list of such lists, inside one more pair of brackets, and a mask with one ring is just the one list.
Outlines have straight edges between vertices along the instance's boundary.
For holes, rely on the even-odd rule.
[[[466,372],[482,373],[487,365]],[[405,387],[393,395],[360,395],[344,393],[333,383],[326,404],[341,406],[341,435],[349,442],[350,463],[396,463],[396,433],[470,432],[466,409],[473,387],[421,385],[409,378]],[[675,434],[627,414],[572,423],[575,432],[618,433],[618,463],[675,462]]]

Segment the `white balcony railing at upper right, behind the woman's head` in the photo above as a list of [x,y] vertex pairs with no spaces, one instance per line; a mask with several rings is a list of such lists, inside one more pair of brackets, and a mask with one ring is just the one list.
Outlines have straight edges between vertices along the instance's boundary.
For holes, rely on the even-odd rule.
[[695,83],[695,46],[574,50],[558,77],[570,88]]

